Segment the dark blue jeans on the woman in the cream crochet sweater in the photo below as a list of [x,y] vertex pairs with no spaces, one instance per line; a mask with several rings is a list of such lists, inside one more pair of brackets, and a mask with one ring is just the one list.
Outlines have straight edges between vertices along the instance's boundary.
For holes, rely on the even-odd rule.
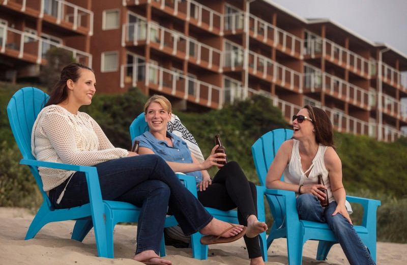
[[[213,219],[158,155],[118,158],[95,167],[103,200],[125,201],[142,209],[138,220],[136,254],[144,250],[154,250],[158,254],[167,206],[185,235],[198,232]],[[61,203],[56,204],[67,182],[49,192],[55,208],[89,203],[85,174],[76,172],[68,183]]]

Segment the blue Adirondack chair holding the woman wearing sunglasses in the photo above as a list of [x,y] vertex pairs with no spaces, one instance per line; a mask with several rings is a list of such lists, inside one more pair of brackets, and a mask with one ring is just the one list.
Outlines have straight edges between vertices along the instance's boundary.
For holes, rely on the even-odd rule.
[[[252,146],[253,160],[261,186],[266,187],[266,175],[280,145],[293,136],[293,130],[275,129],[258,139]],[[281,176],[283,180],[283,176]],[[274,224],[267,238],[267,249],[273,240],[286,237],[288,264],[302,263],[302,249],[307,240],[317,240],[317,260],[325,260],[331,247],[338,243],[327,223],[298,219],[295,192],[266,189],[265,196],[273,215]],[[363,206],[363,221],[354,228],[358,232],[373,260],[376,260],[376,210],[380,201],[346,196],[349,202]]]

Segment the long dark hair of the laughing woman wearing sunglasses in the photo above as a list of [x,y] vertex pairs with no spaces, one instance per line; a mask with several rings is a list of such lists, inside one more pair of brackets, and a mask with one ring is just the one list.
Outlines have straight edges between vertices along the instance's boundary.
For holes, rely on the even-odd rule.
[[309,118],[312,119],[315,128],[315,141],[318,144],[331,146],[336,151],[334,145],[334,126],[328,114],[317,107],[305,105],[303,109],[307,109]]

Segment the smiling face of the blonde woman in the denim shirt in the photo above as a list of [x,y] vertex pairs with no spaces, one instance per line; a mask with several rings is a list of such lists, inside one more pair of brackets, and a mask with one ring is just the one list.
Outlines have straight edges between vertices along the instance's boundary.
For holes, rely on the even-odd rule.
[[144,114],[150,131],[165,133],[167,130],[167,123],[171,119],[171,113],[164,110],[162,105],[158,102],[151,102]]

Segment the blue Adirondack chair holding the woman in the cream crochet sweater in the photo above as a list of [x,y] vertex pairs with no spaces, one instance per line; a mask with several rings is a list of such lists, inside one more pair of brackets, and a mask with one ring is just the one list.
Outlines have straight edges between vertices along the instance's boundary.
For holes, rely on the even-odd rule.
[[[30,228],[28,228],[25,240],[32,239],[47,223],[76,220],[71,238],[81,242],[94,227],[98,256],[113,258],[113,228],[115,224],[118,222],[137,222],[140,214],[139,208],[127,202],[102,200],[98,172],[95,167],[43,162],[34,158],[31,153],[31,131],[38,113],[47,100],[48,95],[41,90],[25,87],[14,94],[7,107],[13,135],[23,156],[20,164],[30,167],[44,199]],[[90,203],[70,209],[55,209],[43,191],[38,167],[85,172]],[[187,187],[195,187],[195,181],[185,179],[184,183]],[[171,220],[168,220],[166,225],[176,225],[175,220],[172,220],[172,223]],[[165,255],[165,249],[162,253]]]

